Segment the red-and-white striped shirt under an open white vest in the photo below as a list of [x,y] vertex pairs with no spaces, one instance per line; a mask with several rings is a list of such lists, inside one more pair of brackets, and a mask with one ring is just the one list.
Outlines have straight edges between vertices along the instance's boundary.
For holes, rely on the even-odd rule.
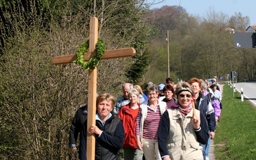
[[[140,122],[141,122],[141,109],[136,118],[136,136],[140,136]],[[147,117],[145,118],[143,125],[143,134],[142,137],[147,140],[157,140],[158,138],[158,125],[161,120],[161,112],[159,106],[155,110],[148,106]]]

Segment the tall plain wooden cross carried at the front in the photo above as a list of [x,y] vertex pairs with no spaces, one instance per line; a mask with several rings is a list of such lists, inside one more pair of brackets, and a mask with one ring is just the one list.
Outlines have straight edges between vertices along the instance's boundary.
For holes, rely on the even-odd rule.
[[[98,40],[98,19],[92,17],[90,19],[90,36],[89,36],[89,48],[88,52],[84,54],[84,60],[88,61],[90,58],[96,55],[95,45]],[[136,53],[134,48],[125,49],[113,49],[105,51],[101,60],[111,58],[123,58],[134,56]],[[70,54],[67,56],[55,56],[52,59],[52,63],[55,65],[73,63],[76,60],[76,54]],[[87,131],[91,125],[95,125],[95,113],[96,113],[96,93],[97,93],[97,68],[89,70],[88,75],[88,116],[87,116]],[[86,144],[86,156],[87,159],[95,159],[95,137],[92,134],[87,134]]]

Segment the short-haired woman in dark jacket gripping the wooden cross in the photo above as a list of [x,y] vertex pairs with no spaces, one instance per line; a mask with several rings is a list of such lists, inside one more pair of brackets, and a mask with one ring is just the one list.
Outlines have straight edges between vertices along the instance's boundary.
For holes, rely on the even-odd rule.
[[[95,160],[120,159],[120,149],[124,143],[124,126],[120,118],[113,115],[116,99],[109,93],[97,97],[96,125],[88,134],[95,134]],[[85,140],[86,141],[86,140]]]

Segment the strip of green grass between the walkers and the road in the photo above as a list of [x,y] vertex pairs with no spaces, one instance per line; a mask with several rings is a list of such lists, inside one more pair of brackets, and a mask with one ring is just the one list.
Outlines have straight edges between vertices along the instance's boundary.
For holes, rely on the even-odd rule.
[[[255,91],[256,92],[256,91]],[[256,159],[256,108],[223,86],[223,109],[214,138],[216,159]]]

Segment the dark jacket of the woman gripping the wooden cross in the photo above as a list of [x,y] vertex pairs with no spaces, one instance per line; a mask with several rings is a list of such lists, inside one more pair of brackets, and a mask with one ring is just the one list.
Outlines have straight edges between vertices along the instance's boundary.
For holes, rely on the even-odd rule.
[[120,118],[112,115],[104,125],[100,120],[96,120],[96,125],[103,132],[96,136],[95,160],[120,160],[124,143],[124,126]]

